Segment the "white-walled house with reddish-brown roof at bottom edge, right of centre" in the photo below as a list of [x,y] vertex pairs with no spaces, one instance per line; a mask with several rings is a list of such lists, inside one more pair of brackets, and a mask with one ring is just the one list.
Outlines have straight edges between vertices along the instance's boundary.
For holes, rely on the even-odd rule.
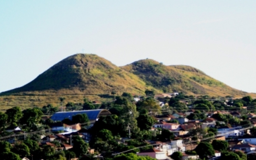
[[157,160],[165,160],[167,159],[166,152],[151,148],[140,153],[137,153],[138,156],[150,156],[152,158],[156,158]]

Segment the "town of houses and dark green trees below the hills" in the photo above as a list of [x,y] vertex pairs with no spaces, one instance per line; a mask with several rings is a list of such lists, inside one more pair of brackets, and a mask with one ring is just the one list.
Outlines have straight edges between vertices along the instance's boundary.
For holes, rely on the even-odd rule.
[[109,102],[0,113],[6,159],[187,160],[256,157],[256,99],[182,92],[144,96],[112,92]]

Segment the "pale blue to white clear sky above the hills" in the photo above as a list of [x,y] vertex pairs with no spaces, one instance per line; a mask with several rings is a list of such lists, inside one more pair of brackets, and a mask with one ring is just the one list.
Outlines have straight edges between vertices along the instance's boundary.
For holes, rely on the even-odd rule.
[[189,65],[256,93],[255,8],[255,0],[0,0],[0,92],[93,53],[117,66]]

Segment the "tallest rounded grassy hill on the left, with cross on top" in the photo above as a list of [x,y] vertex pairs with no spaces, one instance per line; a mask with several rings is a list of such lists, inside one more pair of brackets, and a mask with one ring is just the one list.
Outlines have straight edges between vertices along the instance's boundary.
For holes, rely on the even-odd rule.
[[94,54],[75,54],[61,60],[30,83],[1,95],[29,94],[143,94],[144,81]]

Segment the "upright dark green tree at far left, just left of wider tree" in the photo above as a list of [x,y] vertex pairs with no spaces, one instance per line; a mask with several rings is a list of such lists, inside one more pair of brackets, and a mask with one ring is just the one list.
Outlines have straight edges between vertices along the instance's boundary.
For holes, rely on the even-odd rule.
[[7,109],[6,114],[8,115],[7,122],[12,126],[17,126],[17,123],[22,117],[22,112],[20,107],[13,107],[13,108]]

